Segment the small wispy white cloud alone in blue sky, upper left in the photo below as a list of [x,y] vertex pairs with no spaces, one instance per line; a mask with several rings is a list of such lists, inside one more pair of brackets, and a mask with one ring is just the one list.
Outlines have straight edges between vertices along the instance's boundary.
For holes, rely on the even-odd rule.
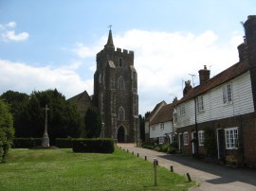
[[0,39],[5,42],[23,42],[27,41],[29,38],[29,34],[27,32],[21,32],[19,34],[15,34],[14,30],[9,30],[9,28],[16,27],[16,23],[14,21],[9,22],[8,24],[1,25],[0,30],[3,30],[0,33]]

